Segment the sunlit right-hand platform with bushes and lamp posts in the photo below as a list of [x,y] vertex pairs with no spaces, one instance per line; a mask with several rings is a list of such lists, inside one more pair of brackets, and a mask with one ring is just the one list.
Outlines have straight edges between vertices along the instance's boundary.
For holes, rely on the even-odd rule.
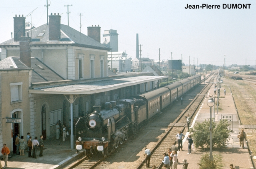
[[[215,81],[214,81],[215,82]],[[248,152],[248,147],[246,145],[246,141],[244,140],[244,149],[240,147],[239,139],[237,135],[241,130],[241,126],[239,123],[239,117],[236,111],[236,107],[234,105],[234,100],[232,98],[232,94],[230,89],[226,88],[226,95],[223,95],[223,87],[220,89],[220,95],[224,96],[224,98],[220,98],[221,108],[222,110],[218,110],[218,114],[216,111],[215,105],[215,122],[218,123],[222,116],[233,117],[233,122],[229,121],[230,129],[233,129],[233,132],[229,133],[230,141],[225,149],[212,149],[212,153],[220,154],[222,156],[221,163],[223,164],[223,169],[229,169],[229,165],[233,164],[235,169],[253,169],[252,161],[250,159],[250,155]],[[208,92],[209,95],[213,95],[214,87],[212,85],[210,91]],[[197,122],[202,122],[205,119],[210,119],[210,107],[208,107],[206,103],[206,98],[204,99],[202,106],[200,107],[199,111],[197,112],[194,121],[192,122],[192,126],[194,126]],[[215,99],[216,101],[216,99]],[[214,117],[213,114],[213,107],[212,107],[212,118]],[[185,138],[183,139],[183,151],[178,151],[178,169],[182,169],[182,160],[187,159],[188,168],[189,169],[198,169],[199,165],[197,163],[200,162],[200,158],[204,152],[209,152],[210,148],[208,149],[201,149],[201,148],[192,148],[192,153],[188,153],[188,141],[186,138],[190,133],[186,132]],[[246,133],[247,134],[247,133]],[[193,137],[192,137],[193,139]],[[233,142],[234,141],[234,142]]]

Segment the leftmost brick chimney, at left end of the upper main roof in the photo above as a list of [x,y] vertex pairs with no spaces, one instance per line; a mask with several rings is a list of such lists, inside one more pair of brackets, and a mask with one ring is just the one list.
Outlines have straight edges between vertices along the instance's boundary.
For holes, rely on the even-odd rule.
[[25,17],[15,15],[14,19],[14,42],[18,42],[19,38],[25,36]]

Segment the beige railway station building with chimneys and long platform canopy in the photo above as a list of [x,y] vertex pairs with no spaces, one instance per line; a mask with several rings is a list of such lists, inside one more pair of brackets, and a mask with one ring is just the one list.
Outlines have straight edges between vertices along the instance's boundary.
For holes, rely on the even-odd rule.
[[60,15],[51,14],[49,25],[25,32],[25,17],[14,17],[14,38],[0,44],[0,148],[6,143],[15,152],[18,133],[53,139],[58,120],[68,125],[94,105],[152,90],[167,78],[108,76],[110,49],[95,36],[100,36],[98,27],[88,28],[93,38],[80,37],[60,24]]

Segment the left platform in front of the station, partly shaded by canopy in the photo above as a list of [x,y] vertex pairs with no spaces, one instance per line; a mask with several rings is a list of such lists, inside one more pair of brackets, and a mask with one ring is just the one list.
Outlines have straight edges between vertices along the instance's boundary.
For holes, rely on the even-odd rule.
[[[37,149],[37,159],[29,158],[25,149],[25,155],[12,155],[8,158],[8,169],[62,169],[67,163],[78,159],[84,155],[84,151],[76,152],[76,149],[70,149],[70,136],[66,141],[60,139],[44,140],[43,157],[39,157],[40,149]],[[4,167],[4,161],[1,160]]]

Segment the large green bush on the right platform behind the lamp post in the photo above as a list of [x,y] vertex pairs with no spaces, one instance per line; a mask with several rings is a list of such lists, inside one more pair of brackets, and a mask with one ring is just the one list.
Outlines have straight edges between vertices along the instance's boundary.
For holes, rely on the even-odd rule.
[[[212,148],[224,148],[225,143],[228,140],[229,130],[228,121],[221,120],[218,124],[212,120]],[[204,146],[210,147],[210,120],[202,123],[196,123],[191,130],[193,132],[192,137],[196,148]]]

